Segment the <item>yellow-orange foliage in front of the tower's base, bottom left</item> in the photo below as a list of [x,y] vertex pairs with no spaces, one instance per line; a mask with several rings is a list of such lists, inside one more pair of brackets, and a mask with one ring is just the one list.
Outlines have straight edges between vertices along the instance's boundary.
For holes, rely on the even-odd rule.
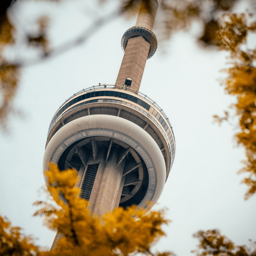
[[[164,211],[151,211],[144,215],[136,206],[119,207],[103,216],[92,216],[87,201],[79,197],[75,186],[77,174],[73,169],[60,171],[50,165],[46,172],[48,189],[55,201],[38,201],[35,216],[43,216],[44,224],[58,230],[60,239],[49,252],[35,245],[33,239],[11,227],[7,219],[0,217],[0,255],[38,256],[170,256],[173,253],[152,253],[151,247],[165,233],[164,224],[169,221]],[[60,198],[64,197],[67,203]],[[134,218],[136,216],[136,218]]]

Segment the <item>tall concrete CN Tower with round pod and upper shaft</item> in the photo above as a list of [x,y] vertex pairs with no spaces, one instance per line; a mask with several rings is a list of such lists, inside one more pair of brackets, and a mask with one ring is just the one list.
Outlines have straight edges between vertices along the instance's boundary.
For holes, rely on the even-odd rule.
[[60,170],[74,169],[80,196],[96,215],[133,204],[147,212],[157,203],[172,168],[171,123],[160,106],[140,92],[145,63],[157,49],[152,32],[157,8],[157,0],[143,0],[135,26],[122,36],[124,57],[116,84],[73,94],[49,126],[43,170],[49,162]]

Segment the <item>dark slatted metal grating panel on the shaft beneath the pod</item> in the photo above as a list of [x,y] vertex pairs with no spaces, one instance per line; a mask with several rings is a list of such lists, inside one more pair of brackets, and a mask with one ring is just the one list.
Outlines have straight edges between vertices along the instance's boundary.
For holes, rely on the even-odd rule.
[[80,197],[89,201],[90,194],[93,189],[93,183],[99,168],[99,163],[91,164],[87,166],[87,170],[84,176],[83,184],[81,187],[81,195]]

